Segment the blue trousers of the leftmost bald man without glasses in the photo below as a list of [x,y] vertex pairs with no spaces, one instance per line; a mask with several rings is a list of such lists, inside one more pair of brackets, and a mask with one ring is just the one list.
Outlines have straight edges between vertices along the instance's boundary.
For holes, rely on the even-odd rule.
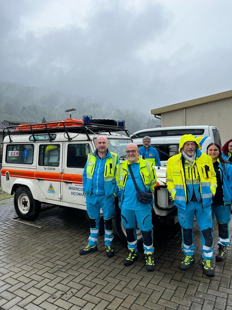
[[86,209],[90,217],[90,236],[88,244],[95,246],[99,232],[100,209],[103,213],[105,222],[105,245],[111,246],[113,242],[113,215],[114,215],[114,197],[113,195],[106,198],[105,194],[96,195],[91,193],[86,195]]

